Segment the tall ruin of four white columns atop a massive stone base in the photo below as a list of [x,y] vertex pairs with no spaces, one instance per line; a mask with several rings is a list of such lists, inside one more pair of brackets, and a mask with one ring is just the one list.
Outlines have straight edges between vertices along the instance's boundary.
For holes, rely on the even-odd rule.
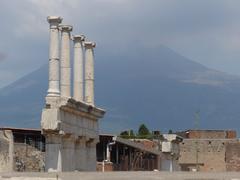
[[96,170],[96,143],[99,139],[98,119],[105,113],[94,105],[95,43],[84,43],[85,38],[81,35],[73,36],[72,98],[70,62],[72,26],[60,25],[61,17],[49,16],[47,20],[50,24],[49,89],[41,119],[42,133],[46,138],[45,168],[46,171],[93,171]]

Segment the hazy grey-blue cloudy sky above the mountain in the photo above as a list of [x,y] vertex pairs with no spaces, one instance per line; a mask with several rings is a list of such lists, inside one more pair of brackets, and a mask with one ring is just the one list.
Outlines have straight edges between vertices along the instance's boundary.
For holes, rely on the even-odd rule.
[[165,45],[240,75],[239,0],[0,0],[0,87],[48,62],[48,15],[110,51]]

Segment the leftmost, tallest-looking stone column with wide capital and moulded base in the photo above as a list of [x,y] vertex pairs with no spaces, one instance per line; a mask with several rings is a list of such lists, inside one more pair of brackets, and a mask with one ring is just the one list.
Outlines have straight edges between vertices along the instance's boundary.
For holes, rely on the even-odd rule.
[[58,25],[62,18],[58,16],[48,16],[50,24],[50,43],[49,43],[49,87],[47,96],[59,96],[59,33]]

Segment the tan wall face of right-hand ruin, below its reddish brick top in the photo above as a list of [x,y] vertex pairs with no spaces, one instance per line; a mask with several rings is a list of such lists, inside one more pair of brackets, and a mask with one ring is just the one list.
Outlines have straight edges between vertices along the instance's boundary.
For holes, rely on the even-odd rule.
[[234,140],[184,139],[180,143],[179,163],[184,170],[199,164],[200,171],[226,171],[226,143]]

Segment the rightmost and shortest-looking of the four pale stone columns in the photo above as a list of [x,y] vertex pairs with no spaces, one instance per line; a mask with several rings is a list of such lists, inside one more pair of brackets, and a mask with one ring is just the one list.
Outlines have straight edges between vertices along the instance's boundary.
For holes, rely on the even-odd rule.
[[94,53],[93,42],[85,42],[85,97],[87,104],[94,105]]

